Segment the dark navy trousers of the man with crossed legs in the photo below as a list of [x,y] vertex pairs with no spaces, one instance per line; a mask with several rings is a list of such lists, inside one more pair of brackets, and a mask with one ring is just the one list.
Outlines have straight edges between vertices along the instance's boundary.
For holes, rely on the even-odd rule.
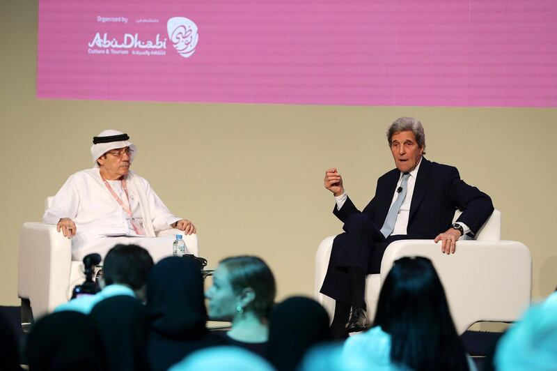
[[389,243],[407,239],[408,236],[396,235],[385,239],[379,227],[365,213],[350,215],[343,230],[345,232],[334,239],[327,274],[320,292],[336,301],[357,305],[363,303],[363,298],[354,297],[350,285],[350,268],[359,268],[371,274],[379,273],[381,260]]

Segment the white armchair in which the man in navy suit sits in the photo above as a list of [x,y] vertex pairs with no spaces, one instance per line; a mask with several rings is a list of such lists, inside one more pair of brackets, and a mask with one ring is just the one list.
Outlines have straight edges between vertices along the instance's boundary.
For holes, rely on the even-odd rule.
[[[460,211],[455,213],[456,220]],[[319,291],[327,273],[335,236],[324,239],[315,255],[315,298],[334,314],[334,300]],[[423,256],[431,259],[445,288],[451,315],[458,333],[478,321],[515,321],[531,299],[532,257],[517,241],[501,241],[501,212],[495,210],[476,234],[462,236],[455,255],[441,253],[432,240],[402,240],[385,250],[379,274],[366,278],[368,318],[372,321],[382,280],[396,259]]]

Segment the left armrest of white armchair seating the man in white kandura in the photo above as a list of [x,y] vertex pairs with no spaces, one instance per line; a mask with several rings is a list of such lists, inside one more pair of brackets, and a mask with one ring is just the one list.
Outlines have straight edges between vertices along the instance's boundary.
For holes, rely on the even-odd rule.
[[68,300],[72,243],[56,225],[26,222],[19,232],[17,294],[29,298],[33,317],[52,312]]

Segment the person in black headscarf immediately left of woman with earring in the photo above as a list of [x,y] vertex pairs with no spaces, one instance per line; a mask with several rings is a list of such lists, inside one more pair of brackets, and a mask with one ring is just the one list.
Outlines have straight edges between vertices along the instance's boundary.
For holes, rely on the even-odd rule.
[[147,356],[153,371],[167,370],[191,352],[219,344],[205,327],[203,279],[193,259],[167,257],[152,268],[147,309]]

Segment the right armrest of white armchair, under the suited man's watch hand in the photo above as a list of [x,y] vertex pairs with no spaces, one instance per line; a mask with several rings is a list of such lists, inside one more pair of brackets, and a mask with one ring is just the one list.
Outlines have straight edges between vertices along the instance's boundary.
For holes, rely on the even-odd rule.
[[454,255],[432,240],[402,240],[383,255],[381,280],[400,257],[431,259],[458,333],[477,321],[515,321],[530,304],[532,257],[517,241],[458,241]]

